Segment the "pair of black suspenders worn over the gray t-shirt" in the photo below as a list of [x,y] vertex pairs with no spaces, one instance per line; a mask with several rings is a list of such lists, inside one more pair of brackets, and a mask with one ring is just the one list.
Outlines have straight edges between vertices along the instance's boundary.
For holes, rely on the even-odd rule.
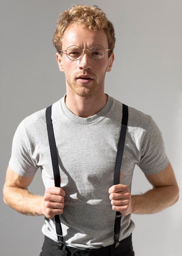
[[[49,106],[46,109],[46,124],[47,124],[47,132],[48,132],[48,139],[49,139],[49,146],[50,146],[50,155],[51,155],[52,165],[53,165],[55,186],[60,187],[59,164],[57,159],[57,150],[56,150],[56,144],[55,144],[53,124],[51,119],[51,108],[52,106]],[[120,132],[120,137],[118,142],[116,164],[114,168],[114,185],[119,184],[119,175],[120,175],[121,162],[123,157],[123,150],[124,150],[125,137],[126,137],[126,131],[127,131],[127,121],[128,121],[128,107],[123,104],[121,132]],[[55,224],[56,224],[56,232],[57,232],[57,238],[58,238],[58,246],[59,246],[59,249],[62,249],[64,242],[63,242],[63,233],[62,233],[59,215],[55,215]],[[114,223],[115,247],[117,247],[119,244],[120,227],[121,227],[121,213],[116,211],[115,223]]]

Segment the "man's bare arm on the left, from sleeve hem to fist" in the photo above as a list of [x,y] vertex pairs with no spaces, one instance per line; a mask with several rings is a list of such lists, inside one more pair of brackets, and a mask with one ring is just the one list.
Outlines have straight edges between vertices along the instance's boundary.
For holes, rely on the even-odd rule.
[[44,196],[34,195],[28,191],[33,177],[22,177],[9,166],[3,188],[4,202],[19,213],[37,216],[45,215],[53,218],[62,214],[65,192],[61,188],[46,189]]

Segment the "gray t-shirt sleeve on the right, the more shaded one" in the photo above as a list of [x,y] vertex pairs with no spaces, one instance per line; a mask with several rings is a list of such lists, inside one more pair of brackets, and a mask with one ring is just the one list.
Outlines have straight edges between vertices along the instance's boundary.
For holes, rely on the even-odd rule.
[[138,166],[146,175],[152,175],[164,170],[168,164],[169,159],[165,152],[162,133],[151,118],[141,143]]

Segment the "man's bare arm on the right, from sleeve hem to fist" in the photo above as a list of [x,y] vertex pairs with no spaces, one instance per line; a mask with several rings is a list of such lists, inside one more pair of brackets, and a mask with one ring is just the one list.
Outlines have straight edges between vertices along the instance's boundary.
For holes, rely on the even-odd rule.
[[131,195],[129,188],[123,184],[112,186],[109,189],[112,209],[120,211],[123,215],[151,214],[162,211],[178,201],[179,189],[171,164],[160,173],[146,177],[153,189],[142,195]]

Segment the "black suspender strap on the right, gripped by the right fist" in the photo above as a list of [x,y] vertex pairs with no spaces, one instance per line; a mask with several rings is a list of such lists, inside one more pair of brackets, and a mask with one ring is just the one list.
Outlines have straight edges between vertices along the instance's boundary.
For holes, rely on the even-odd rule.
[[[125,146],[125,137],[127,131],[127,121],[128,121],[128,107],[123,104],[123,117],[121,121],[121,132],[118,142],[118,151],[116,155],[116,163],[114,168],[114,185],[119,184],[120,180],[120,169],[121,162],[123,158],[123,150]],[[120,227],[121,227],[121,213],[116,211],[115,215],[115,223],[114,223],[114,244],[115,247],[119,245],[119,235],[120,235]]]

